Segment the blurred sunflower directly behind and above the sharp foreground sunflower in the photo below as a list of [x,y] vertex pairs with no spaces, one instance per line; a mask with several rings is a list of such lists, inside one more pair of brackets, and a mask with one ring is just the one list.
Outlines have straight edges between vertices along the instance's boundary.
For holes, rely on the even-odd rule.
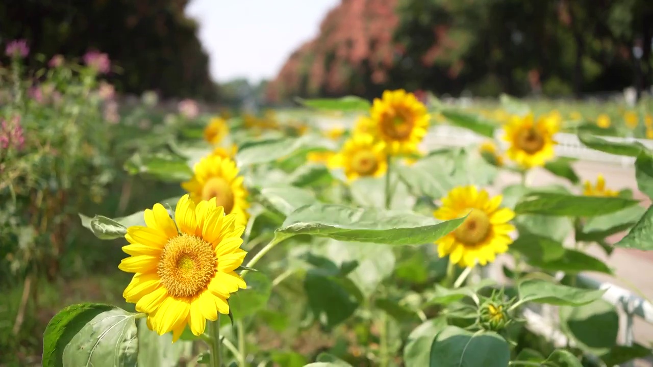
[[191,180],[182,182],[182,187],[190,194],[191,200],[199,204],[202,200],[215,198],[227,214],[238,214],[238,223],[248,219],[247,190],[242,176],[238,176],[236,163],[229,157],[208,155],[193,168]]

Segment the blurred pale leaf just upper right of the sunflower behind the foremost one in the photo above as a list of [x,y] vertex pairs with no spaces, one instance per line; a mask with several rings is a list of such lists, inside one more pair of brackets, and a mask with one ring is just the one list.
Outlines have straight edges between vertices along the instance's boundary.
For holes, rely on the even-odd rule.
[[321,138],[313,135],[304,135],[298,138],[268,138],[249,140],[238,147],[236,162],[238,166],[267,163],[291,155],[300,148],[319,146]]

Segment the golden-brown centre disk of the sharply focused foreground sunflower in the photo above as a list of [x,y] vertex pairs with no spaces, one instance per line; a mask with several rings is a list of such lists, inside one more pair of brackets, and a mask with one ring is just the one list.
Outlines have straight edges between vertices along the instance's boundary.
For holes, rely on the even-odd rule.
[[215,253],[202,238],[182,234],[163,247],[157,274],[173,297],[192,297],[206,288],[215,274]]

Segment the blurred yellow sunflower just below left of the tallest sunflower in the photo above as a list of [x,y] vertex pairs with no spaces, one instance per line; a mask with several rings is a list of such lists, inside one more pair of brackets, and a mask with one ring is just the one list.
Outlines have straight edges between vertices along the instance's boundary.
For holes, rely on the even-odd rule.
[[349,180],[360,177],[380,177],[388,169],[385,144],[372,135],[354,135],[345,142],[342,151],[330,159],[329,167],[343,167]]

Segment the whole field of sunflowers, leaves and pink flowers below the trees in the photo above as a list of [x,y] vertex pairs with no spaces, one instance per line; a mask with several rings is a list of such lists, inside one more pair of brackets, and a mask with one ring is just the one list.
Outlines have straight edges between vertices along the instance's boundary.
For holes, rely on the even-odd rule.
[[[0,349],[17,352],[0,364],[580,367],[650,355],[617,342],[617,310],[577,276],[613,274],[590,247],[653,249],[653,210],[556,156],[565,132],[633,157],[653,198],[653,151],[606,138],[652,138],[646,101],[463,108],[398,89],[264,114],[185,100],[166,114],[151,93],[120,106],[98,81],[106,55],[44,61],[37,84],[21,47],[2,74]],[[441,124],[485,141],[424,144]],[[540,168],[568,184],[530,182]],[[498,185],[502,172],[521,180]],[[508,281],[483,278],[503,256]],[[537,305],[556,308],[573,346],[526,327]]]

